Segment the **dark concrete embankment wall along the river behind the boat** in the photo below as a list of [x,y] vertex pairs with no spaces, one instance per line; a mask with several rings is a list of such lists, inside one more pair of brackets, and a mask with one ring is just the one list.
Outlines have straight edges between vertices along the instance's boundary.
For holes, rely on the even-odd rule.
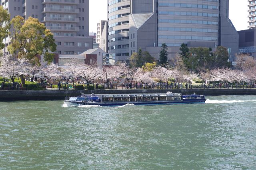
[[148,90],[1,90],[0,101],[18,100],[64,100],[66,96],[78,96],[81,93],[95,94],[128,94],[128,93],[172,93],[198,95],[256,95],[256,89],[148,89]]

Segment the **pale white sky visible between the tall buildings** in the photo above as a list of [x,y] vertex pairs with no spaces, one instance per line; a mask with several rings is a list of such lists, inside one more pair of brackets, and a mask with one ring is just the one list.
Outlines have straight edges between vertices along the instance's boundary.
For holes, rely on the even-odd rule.
[[[97,23],[107,20],[107,0],[90,0],[90,32],[96,32]],[[248,29],[248,1],[229,0],[229,18],[237,31]]]

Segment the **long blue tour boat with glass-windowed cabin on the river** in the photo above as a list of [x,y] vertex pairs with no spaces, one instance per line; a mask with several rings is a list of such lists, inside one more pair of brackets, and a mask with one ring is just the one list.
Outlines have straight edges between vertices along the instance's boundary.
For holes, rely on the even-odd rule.
[[204,95],[182,95],[180,93],[150,94],[82,94],[78,97],[66,97],[65,103],[74,105],[122,106],[133,105],[173,105],[205,103]]

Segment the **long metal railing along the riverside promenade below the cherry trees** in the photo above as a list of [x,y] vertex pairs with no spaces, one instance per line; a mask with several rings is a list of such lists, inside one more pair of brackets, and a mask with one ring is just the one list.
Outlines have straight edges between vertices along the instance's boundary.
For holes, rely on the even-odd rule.
[[93,89],[256,89],[256,84],[163,84],[163,83],[149,83],[149,84],[131,84],[131,83],[90,83],[90,84],[74,84],[73,83],[38,83],[32,85],[20,85],[20,83],[4,83],[0,84],[0,90],[93,90]]

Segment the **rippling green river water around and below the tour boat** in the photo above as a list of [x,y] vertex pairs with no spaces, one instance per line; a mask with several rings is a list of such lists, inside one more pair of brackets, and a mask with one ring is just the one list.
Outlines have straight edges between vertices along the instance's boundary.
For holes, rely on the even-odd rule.
[[256,96],[206,104],[0,102],[0,170],[256,169]]

